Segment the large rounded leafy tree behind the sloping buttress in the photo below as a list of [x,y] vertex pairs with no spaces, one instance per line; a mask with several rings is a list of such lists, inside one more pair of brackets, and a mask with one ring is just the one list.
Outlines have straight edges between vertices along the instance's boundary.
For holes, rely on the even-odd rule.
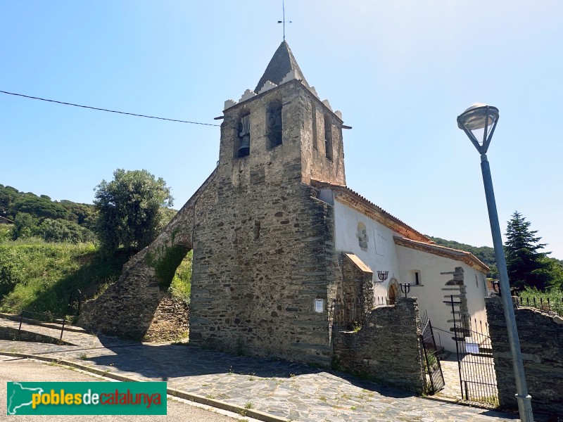
[[107,253],[120,246],[136,252],[151,243],[173,201],[164,179],[146,170],[115,170],[113,181],[103,180],[94,190],[97,234]]

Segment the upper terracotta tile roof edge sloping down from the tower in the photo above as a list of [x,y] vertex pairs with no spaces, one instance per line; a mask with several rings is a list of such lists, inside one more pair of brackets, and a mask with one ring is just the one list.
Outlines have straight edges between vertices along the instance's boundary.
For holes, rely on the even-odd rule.
[[407,238],[414,238],[415,240],[418,241],[434,243],[429,238],[424,236],[424,234],[419,233],[419,231],[416,231],[411,226],[405,224],[397,217],[389,214],[388,212],[386,212],[386,210],[379,207],[378,205],[375,205],[367,198],[361,196],[360,193],[353,191],[352,189],[348,188],[348,186],[346,185],[334,184],[327,181],[320,181],[315,179],[311,179],[311,185],[320,188],[330,188],[337,195],[347,196],[353,203],[358,203],[358,205],[362,205],[364,208],[371,211],[372,213],[368,215],[366,214],[366,212],[364,212],[365,210],[358,210],[358,211],[362,212],[363,214],[366,214],[368,217],[371,218],[376,217],[374,218],[376,219],[376,221],[380,222],[381,224],[384,224],[384,226],[387,226],[391,230],[397,231],[398,233],[402,234]]

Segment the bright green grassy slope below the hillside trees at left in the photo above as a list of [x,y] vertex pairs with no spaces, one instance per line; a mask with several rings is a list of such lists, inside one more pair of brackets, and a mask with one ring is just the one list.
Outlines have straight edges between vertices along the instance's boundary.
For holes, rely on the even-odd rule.
[[46,243],[25,239],[0,243],[0,310],[70,314],[74,289],[91,298],[115,281],[127,260],[123,252],[106,260],[93,243]]

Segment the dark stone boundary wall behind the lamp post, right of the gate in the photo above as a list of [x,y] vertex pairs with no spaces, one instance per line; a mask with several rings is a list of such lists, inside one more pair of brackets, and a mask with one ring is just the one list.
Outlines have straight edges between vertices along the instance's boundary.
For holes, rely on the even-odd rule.
[[[500,407],[517,409],[512,354],[502,302],[486,298]],[[563,416],[563,319],[537,309],[514,309],[532,408]]]

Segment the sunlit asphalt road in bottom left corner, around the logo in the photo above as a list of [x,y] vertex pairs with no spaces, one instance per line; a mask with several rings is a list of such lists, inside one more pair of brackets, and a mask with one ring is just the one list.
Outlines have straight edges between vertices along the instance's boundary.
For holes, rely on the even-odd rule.
[[[236,417],[224,415],[229,412],[219,411],[210,407],[200,407],[201,405],[196,407],[188,404],[189,402],[185,400],[171,398],[170,396],[168,396],[166,416],[8,416],[6,415],[6,382],[8,381],[101,381],[101,379],[63,366],[0,356],[0,421],[234,422],[237,420]],[[234,414],[231,415],[235,416]],[[241,419],[240,416],[239,419]],[[246,421],[248,420],[246,418]]]

